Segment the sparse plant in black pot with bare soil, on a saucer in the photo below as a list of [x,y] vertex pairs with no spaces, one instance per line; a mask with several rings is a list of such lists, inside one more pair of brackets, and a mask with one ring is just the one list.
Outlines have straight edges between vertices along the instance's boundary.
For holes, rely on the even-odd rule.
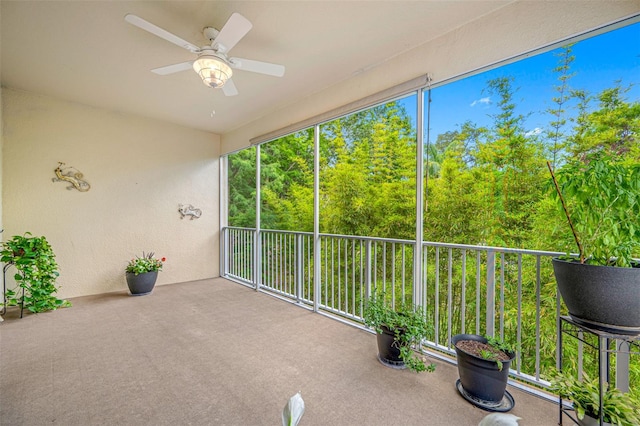
[[[456,386],[465,399],[491,411],[509,411],[513,401],[504,403],[509,368],[515,349],[500,339],[478,334],[456,334],[451,342],[456,351]],[[460,387],[462,389],[460,389]]]

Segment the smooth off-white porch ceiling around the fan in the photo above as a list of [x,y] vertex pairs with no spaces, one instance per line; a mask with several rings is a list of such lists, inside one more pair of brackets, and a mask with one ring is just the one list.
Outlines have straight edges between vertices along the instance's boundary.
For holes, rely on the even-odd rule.
[[[508,3],[2,0],[2,85],[225,134]],[[235,71],[235,97],[191,70],[151,73],[194,55],[124,21],[133,13],[203,45],[202,28],[233,12],[253,29],[229,56],[286,66],[282,78]]]

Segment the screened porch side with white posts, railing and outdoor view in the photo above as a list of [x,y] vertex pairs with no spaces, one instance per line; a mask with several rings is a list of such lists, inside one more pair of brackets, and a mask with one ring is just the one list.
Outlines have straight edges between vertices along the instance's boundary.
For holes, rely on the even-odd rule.
[[[512,384],[543,396],[560,359],[597,375],[597,352],[557,344],[567,311],[551,259],[575,248],[547,168],[593,149],[640,161],[635,139],[609,136],[629,134],[624,120],[600,121],[637,110],[633,72],[590,96],[574,89],[593,40],[451,81],[419,77],[368,108],[347,105],[224,157],[223,276],[363,328],[368,298],[384,291],[425,309],[433,331],[419,350],[455,362],[454,335],[499,337],[517,348]],[[532,106],[541,94],[548,103]],[[612,384],[637,389],[636,358],[610,355]]]

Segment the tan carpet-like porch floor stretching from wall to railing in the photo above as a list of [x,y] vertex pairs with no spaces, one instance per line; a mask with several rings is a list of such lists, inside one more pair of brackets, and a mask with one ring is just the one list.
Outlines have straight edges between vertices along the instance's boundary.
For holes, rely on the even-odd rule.
[[[0,323],[0,424],[278,425],[298,391],[301,426],[488,414],[458,394],[455,366],[385,367],[375,335],[222,278],[72,302]],[[509,392],[521,426],[557,424],[555,404]]]

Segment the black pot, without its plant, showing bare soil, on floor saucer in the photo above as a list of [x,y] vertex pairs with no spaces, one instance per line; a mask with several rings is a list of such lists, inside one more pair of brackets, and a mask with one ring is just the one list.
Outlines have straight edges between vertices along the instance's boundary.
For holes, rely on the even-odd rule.
[[[505,397],[509,367],[515,358],[515,353],[508,354],[511,359],[502,361],[502,370],[500,370],[495,361],[483,359],[458,349],[456,344],[461,340],[487,343],[487,339],[477,334],[457,334],[451,339],[456,350],[458,374],[462,388],[472,399],[476,400],[475,405],[492,411],[508,411],[492,408],[497,408]],[[509,409],[512,407],[513,405]]]

